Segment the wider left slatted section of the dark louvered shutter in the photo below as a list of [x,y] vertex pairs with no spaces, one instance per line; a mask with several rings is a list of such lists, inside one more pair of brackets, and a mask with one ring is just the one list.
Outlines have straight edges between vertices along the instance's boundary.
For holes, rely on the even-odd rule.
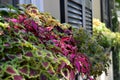
[[67,2],[67,21],[76,28],[83,26],[81,2],[81,0],[68,0]]

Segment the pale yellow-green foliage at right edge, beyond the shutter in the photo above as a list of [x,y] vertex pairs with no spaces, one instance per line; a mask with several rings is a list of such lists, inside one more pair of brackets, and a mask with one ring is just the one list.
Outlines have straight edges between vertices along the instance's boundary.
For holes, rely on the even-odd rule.
[[112,32],[98,19],[93,20],[93,36],[104,48],[120,46],[120,33]]

